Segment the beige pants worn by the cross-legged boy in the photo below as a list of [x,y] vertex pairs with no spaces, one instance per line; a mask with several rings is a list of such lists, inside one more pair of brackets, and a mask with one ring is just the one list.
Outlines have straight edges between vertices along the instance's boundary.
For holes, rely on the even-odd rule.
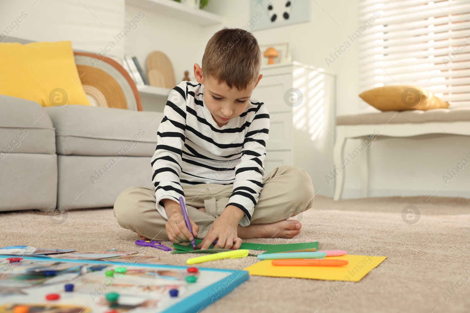
[[[253,224],[282,221],[308,210],[313,205],[313,185],[305,170],[283,165],[269,173],[258,203],[251,216]],[[233,184],[201,183],[183,186],[188,215],[199,226],[198,238],[204,238],[212,223],[225,209]],[[155,190],[131,187],[123,191],[114,204],[114,216],[121,227],[144,237],[168,240],[166,219],[157,212]],[[197,207],[204,207],[206,213]]]

